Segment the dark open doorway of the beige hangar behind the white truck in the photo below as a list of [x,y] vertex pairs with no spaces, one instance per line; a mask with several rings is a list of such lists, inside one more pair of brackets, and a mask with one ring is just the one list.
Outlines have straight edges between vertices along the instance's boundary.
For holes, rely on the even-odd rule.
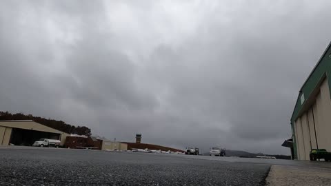
[[31,146],[34,141],[37,141],[40,138],[60,140],[61,134],[13,128],[9,143],[21,146]]

